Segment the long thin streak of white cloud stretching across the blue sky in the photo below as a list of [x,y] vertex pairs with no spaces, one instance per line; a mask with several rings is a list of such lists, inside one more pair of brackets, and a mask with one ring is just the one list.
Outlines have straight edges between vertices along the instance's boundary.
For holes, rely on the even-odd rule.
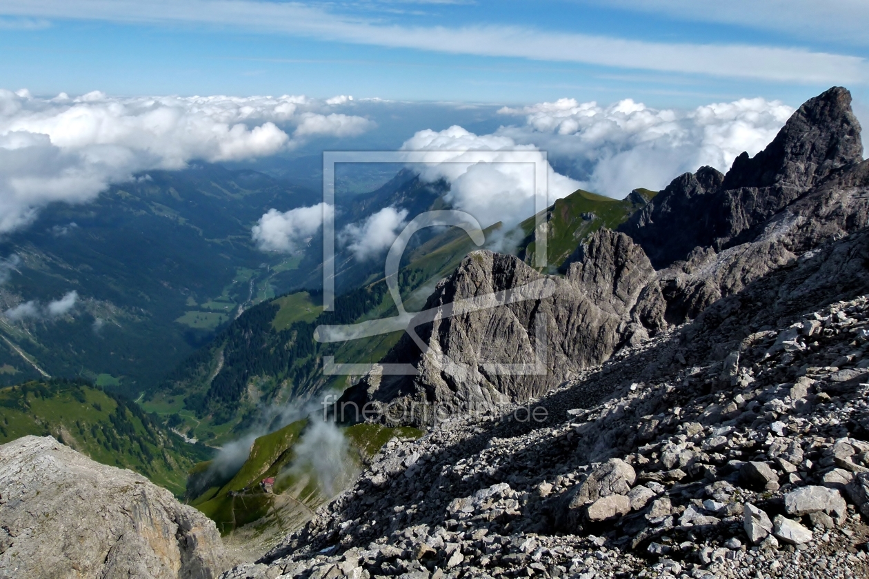
[[[779,10],[792,9],[782,5]],[[126,23],[204,23],[344,43],[781,82],[850,84],[869,79],[869,66],[864,58],[800,48],[647,42],[503,25],[462,28],[385,25],[289,2],[5,0],[0,5],[0,14]]]

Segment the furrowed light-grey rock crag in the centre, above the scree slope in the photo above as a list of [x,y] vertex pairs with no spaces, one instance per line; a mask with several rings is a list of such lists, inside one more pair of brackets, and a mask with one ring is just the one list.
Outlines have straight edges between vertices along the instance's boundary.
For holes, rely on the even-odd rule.
[[[653,278],[653,267],[640,247],[627,235],[606,229],[588,240],[567,278],[542,275],[512,255],[470,253],[437,286],[424,309],[448,313],[451,304],[530,283],[551,284],[551,295],[420,326],[428,352],[421,354],[405,335],[383,360],[412,362],[419,376],[368,376],[344,400],[359,404],[407,397],[408,402],[448,402],[468,410],[541,396],[554,382],[600,364],[620,345],[647,337],[647,328],[632,319],[632,311]],[[538,361],[543,373],[506,374],[494,367]]]

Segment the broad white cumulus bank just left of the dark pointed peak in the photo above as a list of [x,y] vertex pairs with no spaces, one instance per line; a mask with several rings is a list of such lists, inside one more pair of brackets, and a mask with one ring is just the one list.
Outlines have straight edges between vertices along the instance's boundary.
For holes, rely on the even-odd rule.
[[621,198],[634,188],[663,188],[702,165],[726,171],[742,151],[754,155],[772,141],[793,109],[762,98],[687,111],[631,99],[601,107],[564,98],[499,112],[524,116],[525,124],[495,136],[534,143],[569,167],[583,188]]

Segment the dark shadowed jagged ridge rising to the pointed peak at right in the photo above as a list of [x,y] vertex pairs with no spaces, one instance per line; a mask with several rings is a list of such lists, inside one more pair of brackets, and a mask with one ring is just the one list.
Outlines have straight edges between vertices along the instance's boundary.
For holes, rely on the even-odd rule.
[[686,260],[694,247],[717,251],[750,240],[755,227],[841,168],[863,160],[851,94],[833,87],[801,106],[766,149],[743,153],[726,175],[700,168],[673,180],[620,231],[655,267]]

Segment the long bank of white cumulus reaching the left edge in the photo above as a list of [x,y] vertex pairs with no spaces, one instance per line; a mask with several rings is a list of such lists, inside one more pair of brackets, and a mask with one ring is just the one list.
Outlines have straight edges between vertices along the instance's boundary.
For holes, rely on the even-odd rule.
[[291,95],[42,99],[0,90],[0,234],[52,201],[90,201],[134,173],[273,155],[316,135],[358,135],[373,124],[318,112],[332,106]]

